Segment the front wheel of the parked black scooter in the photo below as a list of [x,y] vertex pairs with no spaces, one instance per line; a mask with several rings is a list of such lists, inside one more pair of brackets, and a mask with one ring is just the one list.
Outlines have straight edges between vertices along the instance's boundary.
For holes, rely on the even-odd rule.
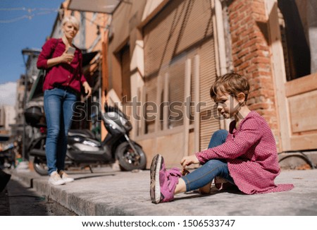
[[116,150],[116,159],[120,164],[120,169],[123,171],[132,171],[134,169],[145,169],[147,166],[147,157],[145,156],[142,147],[135,145],[137,152],[132,150],[129,143],[121,143]]

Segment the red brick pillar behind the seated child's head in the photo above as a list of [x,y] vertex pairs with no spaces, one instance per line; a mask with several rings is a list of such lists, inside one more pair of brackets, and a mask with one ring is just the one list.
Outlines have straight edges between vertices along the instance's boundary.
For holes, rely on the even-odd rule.
[[228,6],[234,71],[251,85],[249,108],[268,121],[280,146],[273,73],[263,0],[235,0]]

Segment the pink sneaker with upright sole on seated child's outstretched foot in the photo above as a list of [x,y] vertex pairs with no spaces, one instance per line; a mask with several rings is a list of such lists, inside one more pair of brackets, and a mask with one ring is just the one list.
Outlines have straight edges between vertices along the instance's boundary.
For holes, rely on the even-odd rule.
[[151,163],[151,201],[158,204],[174,200],[174,190],[180,176],[179,169],[166,170],[162,155],[156,155]]

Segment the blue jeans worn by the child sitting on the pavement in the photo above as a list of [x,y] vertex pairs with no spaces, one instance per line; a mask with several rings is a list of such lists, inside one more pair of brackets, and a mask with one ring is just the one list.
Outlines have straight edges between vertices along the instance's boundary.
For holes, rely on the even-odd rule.
[[[208,148],[216,147],[225,143],[228,131],[219,130],[213,133]],[[216,176],[221,176],[234,184],[232,177],[229,174],[227,162],[220,159],[211,159],[203,164],[198,169],[195,169],[190,174],[183,176],[182,179],[186,183],[186,190],[195,190],[206,186],[206,184],[213,181]]]

